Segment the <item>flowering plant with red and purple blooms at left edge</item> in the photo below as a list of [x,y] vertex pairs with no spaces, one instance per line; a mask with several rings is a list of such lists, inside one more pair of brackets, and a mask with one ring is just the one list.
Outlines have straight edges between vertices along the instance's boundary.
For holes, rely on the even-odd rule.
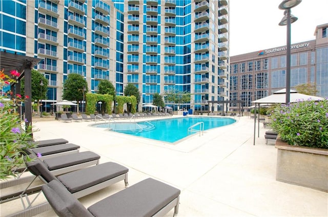
[[[0,89],[10,83],[16,82],[13,77],[19,76],[15,70],[11,71],[11,77],[0,71]],[[32,148],[35,145],[28,143],[32,140],[32,127],[30,124],[22,124],[20,116],[16,112],[16,108],[20,102],[25,99],[21,95],[16,94],[15,97],[12,92],[0,94],[0,179],[8,179],[15,176],[15,169],[24,165],[25,161],[31,161],[29,157],[24,159],[26,155],[26,148]],[[25,96],[28,98],[29,96]],[[25,124],[28,124],[25,130]]]

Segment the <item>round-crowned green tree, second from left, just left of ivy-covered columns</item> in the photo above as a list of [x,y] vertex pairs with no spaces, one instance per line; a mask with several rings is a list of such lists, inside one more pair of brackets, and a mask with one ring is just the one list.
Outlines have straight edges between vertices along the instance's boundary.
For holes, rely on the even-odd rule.
[[64,82],[63,100],[76,100],[79,104],[83,100],[83,95],[87,92],[88,83],[82,75],[72,73],[67,76],[67,80]]

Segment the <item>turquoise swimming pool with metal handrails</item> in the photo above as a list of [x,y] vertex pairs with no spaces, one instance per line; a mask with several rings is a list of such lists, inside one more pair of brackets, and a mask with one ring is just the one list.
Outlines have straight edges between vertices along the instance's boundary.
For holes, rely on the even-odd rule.
[[[111,130],[121,133],[159,140],[162,142],[175,143],[188,135],[195,133],[188,133],[188,128],[198,122],[203,122],[204,130],[209,130],[233,124],[236,120],[227,117],[189,116],[137,123],[100,124],[96,125],[96,127],[111,128]],[[199,127],[196,127],[196,129],[199,129]]]

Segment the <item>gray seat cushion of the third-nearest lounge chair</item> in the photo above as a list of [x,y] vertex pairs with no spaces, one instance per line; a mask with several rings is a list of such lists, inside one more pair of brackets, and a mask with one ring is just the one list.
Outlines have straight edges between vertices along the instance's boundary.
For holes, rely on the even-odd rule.
[[83,151],[78,153],[57,156],[52,159],[46,159],[43,163],[49,170],[70,167],[73,165],[99,160],[100,156],[92,151]]

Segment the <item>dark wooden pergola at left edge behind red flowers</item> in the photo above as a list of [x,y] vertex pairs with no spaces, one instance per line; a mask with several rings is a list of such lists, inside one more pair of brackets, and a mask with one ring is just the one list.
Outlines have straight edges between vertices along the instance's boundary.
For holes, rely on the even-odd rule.
[[[10,84],[10,90],[16,94],[20,94],[20,83],[23,77],[25,77],[25,95],[32,95],[32,86],[31,86],[31,69],[42,59],[35,58],[31,56],[24,56],[14,53],[8,53],[5,51],[0,51],[0,69],[4,69],[5,74],[11,76],[11,70],[17,70],[20,75],[17,78],[18,83]],[[31,97],[25,99],[25,118],[28,121],[29,125],[32,125],[32,100]],[[20,113],[20,107],[19,113]],[[26,125],[28,127],[28,125]]]

